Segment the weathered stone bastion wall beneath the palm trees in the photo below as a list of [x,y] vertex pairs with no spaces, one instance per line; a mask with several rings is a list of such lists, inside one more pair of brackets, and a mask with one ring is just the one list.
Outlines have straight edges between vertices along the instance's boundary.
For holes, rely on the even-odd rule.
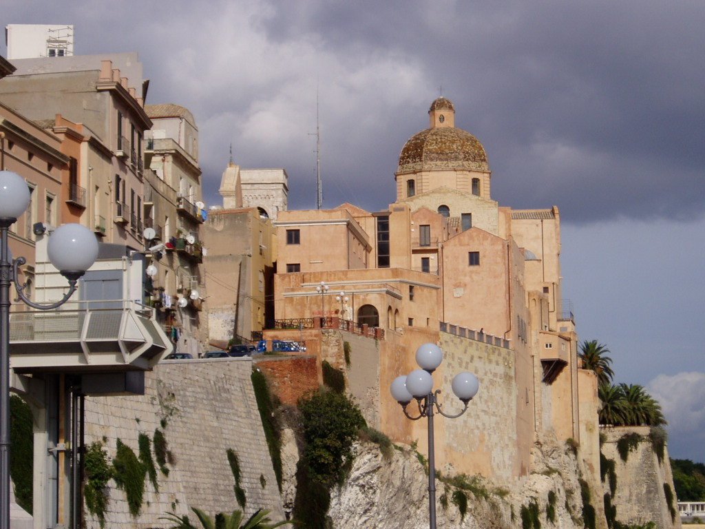
[[[668,449],[663,447],[663,458],[659,458],[649,438],[649,427],[605,427],[601,429],[603,443],[601,452],[607,461],[614,461],[617,486],[611,499],[616,507],[615,519],[622,523],[647,523],[653,521],[657,528],[679,528],[678,504],[673,487],[673,474],[668,460]],[[638,443],[627,452],[627,461],[620,456],[620,439],[638,436]],[[626,442],[623,441],[623,446]],[[604,464],[604,460],[603,460]],[[608,476],[603,482],[604,494],[610,493]],[[666,501],[666,487],[673,498],[675,516],[671,516]]]

